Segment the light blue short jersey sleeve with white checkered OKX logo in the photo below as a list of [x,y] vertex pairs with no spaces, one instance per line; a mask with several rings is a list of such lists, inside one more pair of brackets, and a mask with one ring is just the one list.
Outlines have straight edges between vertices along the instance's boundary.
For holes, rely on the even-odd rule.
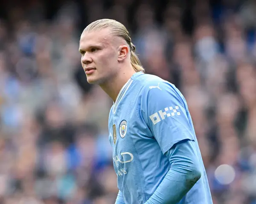
[[165,154],[179,141],[195,139],[186,101],[167,81],[151,82],[142,96],[142,116]]

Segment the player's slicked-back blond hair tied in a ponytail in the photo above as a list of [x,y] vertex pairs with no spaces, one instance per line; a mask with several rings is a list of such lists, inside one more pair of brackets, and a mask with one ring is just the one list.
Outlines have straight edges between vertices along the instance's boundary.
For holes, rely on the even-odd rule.
[[84,32],[99,31],[107,28],[111,29],[113,35],[122,37],[129,45],[131,52],[131,66],[133,67],[133,69],[136,72],[145,73],[145,70],[140,62],[140,59],[135,53],[136,47],[134,46],[133,43],[131,43],[131,36],[122,23],[119,23],[118,21],[112,19],[100,19],[90,23],[84,29]]

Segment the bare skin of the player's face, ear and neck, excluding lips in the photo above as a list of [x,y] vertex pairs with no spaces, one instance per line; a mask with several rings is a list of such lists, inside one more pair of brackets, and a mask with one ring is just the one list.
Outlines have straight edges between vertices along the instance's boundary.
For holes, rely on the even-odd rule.
[[88,83],[101,86],[115,102],[122,87],[135,73],[126,41],[111,34],[110,29],[83,32],[79,52],[84,71],[89,67],[95,69],[86,74]]

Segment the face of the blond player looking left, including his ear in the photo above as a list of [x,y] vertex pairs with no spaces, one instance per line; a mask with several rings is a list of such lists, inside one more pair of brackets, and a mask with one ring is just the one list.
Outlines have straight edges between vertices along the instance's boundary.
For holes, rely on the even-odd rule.
[[118,73],[128,47],[117,44],[115,38],[108,29],[81,35],[79,52],[88,83],[103,84]]

